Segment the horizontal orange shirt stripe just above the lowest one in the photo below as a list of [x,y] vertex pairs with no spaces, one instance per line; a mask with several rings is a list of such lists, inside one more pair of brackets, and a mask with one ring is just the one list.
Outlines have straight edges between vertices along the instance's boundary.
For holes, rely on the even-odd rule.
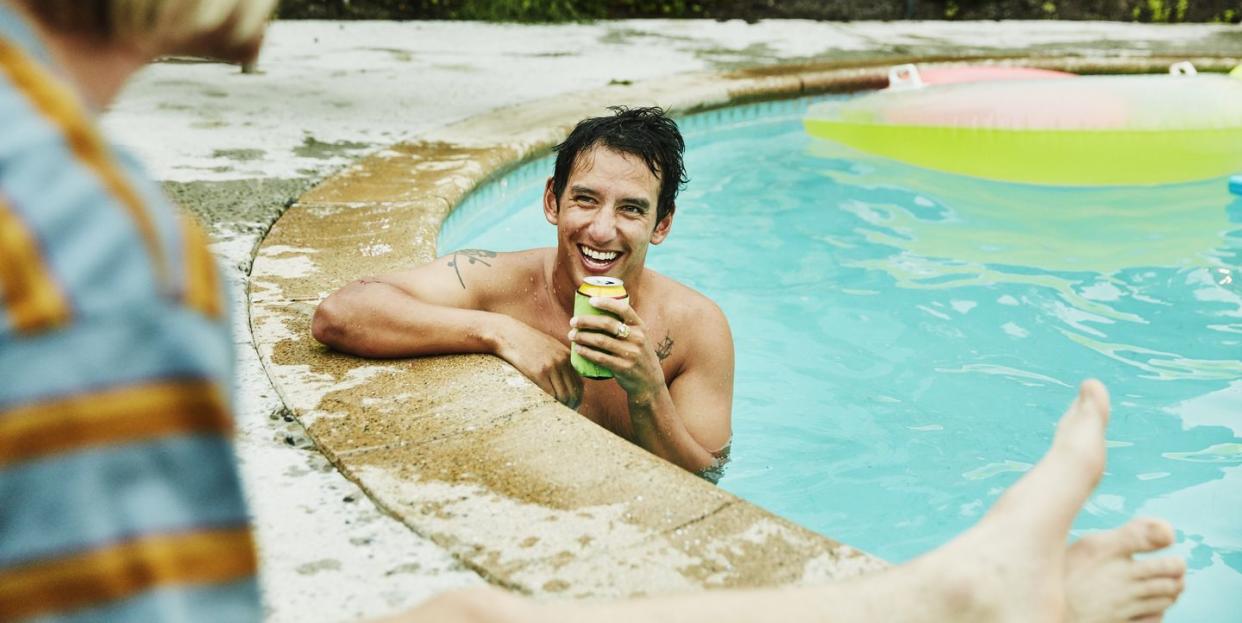
[[211,382],[113,388],[0,412],[0,467],[97,446],[231,431],[227,403]]

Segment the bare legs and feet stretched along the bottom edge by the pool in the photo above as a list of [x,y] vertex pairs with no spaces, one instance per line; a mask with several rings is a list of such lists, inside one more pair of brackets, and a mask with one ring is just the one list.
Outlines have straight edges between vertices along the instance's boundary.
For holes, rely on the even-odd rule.
[[[1123,527],[1066,547],[1071,522],[1104,469],[1108,392],[1097,381],[1083,383],[1062,417],[1052,448],[974,527],[945,546],[907,565],[874,576],[817,588],[719,591],[614,603],[533,604],[494,599],[494,593],[456,593],[440,602],[436,621],[538,622],[1066,622],[1071,621],[1067,573],[1074,593],[1115,588],[1113,573],[1093,572],[1124,565],[1117,547],[1134,530]],[[1105,537],[1107,536],[1107,537]],[[1156,535],[1159,536],[1159,535]],[[1159,541],[1159,537],[1154,539]],[[1138,549],[1122,546],[1122,551]],[[1068,550],[1068,554],[1067,554]],[[1099,555],[1099,552],[1112,552]],[[1131,561],[1133,562],[1133,561]],[[1069,565],[1072,563],[1072,565]],[[1156,565],[1141,573],[1161,577]],[[1131,566],[1131,571],[1138,567]],[[1165,573],[1167,576],[1167,573]],[[1164,594],[1161,591],[1156,593]],[[446,616],[465,599],[462,617]],[[497,608],[478,608],[484,599]],[[1073,603],[1074,612],[1079,606]],[[436,603],[428,606],[437,608]],[[424,608],[420,608],[424,611]],[[406,621],[431,621],[415,611]],[[486,612],[484,612],[486,611]],[[1163,612],[1163,608],[1159,609]],[[1092,611],[1094,612],[1094,611]],[[1141,611],[1151,612],[1151,611]],[[1138,614],[1139,611],[1135,611]],[[1086,621],[1083,623],[1087,623]]]

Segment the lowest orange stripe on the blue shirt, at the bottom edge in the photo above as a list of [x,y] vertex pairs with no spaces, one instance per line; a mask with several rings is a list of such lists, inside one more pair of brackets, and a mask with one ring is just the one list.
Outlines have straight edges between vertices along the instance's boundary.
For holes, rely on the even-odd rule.
[[0,570],[0,613],[24,619],[125,599],[166,586],[220,585],[255,575],[248,529],[145,536]]

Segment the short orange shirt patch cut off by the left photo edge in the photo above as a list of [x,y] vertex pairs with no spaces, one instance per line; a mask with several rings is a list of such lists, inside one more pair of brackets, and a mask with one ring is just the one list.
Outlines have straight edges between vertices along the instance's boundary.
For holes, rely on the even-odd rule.
[[19,333],[35,333],[70,321],[72,312],[60,284],[43,263],[39,242],[26,223],[0,199],[0,302]]

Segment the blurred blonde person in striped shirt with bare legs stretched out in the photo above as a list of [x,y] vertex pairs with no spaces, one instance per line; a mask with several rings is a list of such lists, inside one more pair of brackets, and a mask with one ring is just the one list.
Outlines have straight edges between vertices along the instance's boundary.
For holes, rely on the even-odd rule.
[[[161,55],[253,60],[273,0],[0,0],[0,619],[258,621],[230,444],[232,349],[201,231],[97,114]],[[1159,621],[1171,542],[1135,520],[1066,546],[1100,478],[1087,382],[1052,449],[956,540],[815,588],[539,604],[494,588],[396,621]]]

